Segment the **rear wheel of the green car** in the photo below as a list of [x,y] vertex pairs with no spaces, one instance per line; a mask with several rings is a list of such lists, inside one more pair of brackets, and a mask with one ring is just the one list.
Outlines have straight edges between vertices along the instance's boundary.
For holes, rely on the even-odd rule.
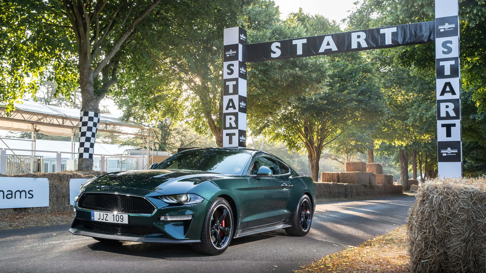
[[285,229],[287,234],[292,236],[306,236],[311,230],[312,205],[309,196],[303,195],[295,209],[292,226]]

